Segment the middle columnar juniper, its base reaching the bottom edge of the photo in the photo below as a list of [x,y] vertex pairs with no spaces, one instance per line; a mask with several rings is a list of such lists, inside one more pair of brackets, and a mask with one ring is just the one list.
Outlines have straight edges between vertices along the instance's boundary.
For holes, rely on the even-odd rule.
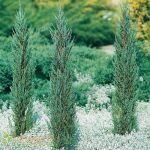
[[70,150],[73,149],[76,134],[75,98],[70,67],[73,41],[61,8],[56,16],[56,27],[51,28],[50,33],[55,45],[48,101],[53,144],[55,148]]

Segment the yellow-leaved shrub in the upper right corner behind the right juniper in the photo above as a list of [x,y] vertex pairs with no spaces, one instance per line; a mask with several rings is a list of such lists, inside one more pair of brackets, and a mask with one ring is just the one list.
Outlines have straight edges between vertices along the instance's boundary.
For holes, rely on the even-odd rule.
[[129,0],[131,16],[137,23],[137,38],[144,41],[150,54],[150,0]]

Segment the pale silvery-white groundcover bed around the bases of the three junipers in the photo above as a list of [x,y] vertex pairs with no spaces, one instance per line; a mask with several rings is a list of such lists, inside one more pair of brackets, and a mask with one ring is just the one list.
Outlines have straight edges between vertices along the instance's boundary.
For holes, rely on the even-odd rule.
[[[39,110],[38,110],[39,109]],[[35,103],[35,110],[39,118],[34,128],[18,138],[10,135],[9,120],[11,110],[0,113],[0,149],[1,150],[50,150],[52,137],[47,129],[45,107]],[[150,104],[138,103],[137,115],[139,131],[130,135],[120,136],[112,134],[111,112],[106,109],[87,110],[77,107],[80,140],[78,150],[149,150],[150,149]],[[10,118],[10,119],[8,119]]]

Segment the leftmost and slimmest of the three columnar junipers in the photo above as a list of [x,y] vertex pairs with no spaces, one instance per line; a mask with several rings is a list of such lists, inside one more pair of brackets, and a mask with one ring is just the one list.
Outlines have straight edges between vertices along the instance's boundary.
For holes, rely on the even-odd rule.
[[23,10],[16,15],[12,37],[12,110],[14,113],[15,136],[24,134],[32,127],[32,76],[30,31],[27,28]]

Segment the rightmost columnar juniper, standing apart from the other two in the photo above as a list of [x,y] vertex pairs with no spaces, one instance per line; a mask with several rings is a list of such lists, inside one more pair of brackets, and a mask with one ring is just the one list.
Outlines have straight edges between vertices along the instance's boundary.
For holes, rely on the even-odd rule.
[[122,18],[117,29],[115,48],[116,91],[112,100],[112,115],[114,132],[123,135],[137,130],[137,49],[135,32],[131,28],[128,4],[122,7]]

